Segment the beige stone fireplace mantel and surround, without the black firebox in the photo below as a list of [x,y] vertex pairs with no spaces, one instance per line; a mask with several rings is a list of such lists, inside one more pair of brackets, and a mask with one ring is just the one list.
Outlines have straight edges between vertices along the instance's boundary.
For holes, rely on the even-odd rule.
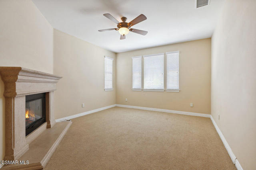
[[[40,133],[25,134],[26,95],[46,92],[46,125],[55,124],[53,95],[60,76],[22,67],[0,67],[5,97],[5,160],[17,160]],[[39,127],[40,128],[40,127]],[[42,131],[42,130],[41,130]],[[34,134],[33,134],[34,133]],[[30,138],[29,140],[27,138]]]

